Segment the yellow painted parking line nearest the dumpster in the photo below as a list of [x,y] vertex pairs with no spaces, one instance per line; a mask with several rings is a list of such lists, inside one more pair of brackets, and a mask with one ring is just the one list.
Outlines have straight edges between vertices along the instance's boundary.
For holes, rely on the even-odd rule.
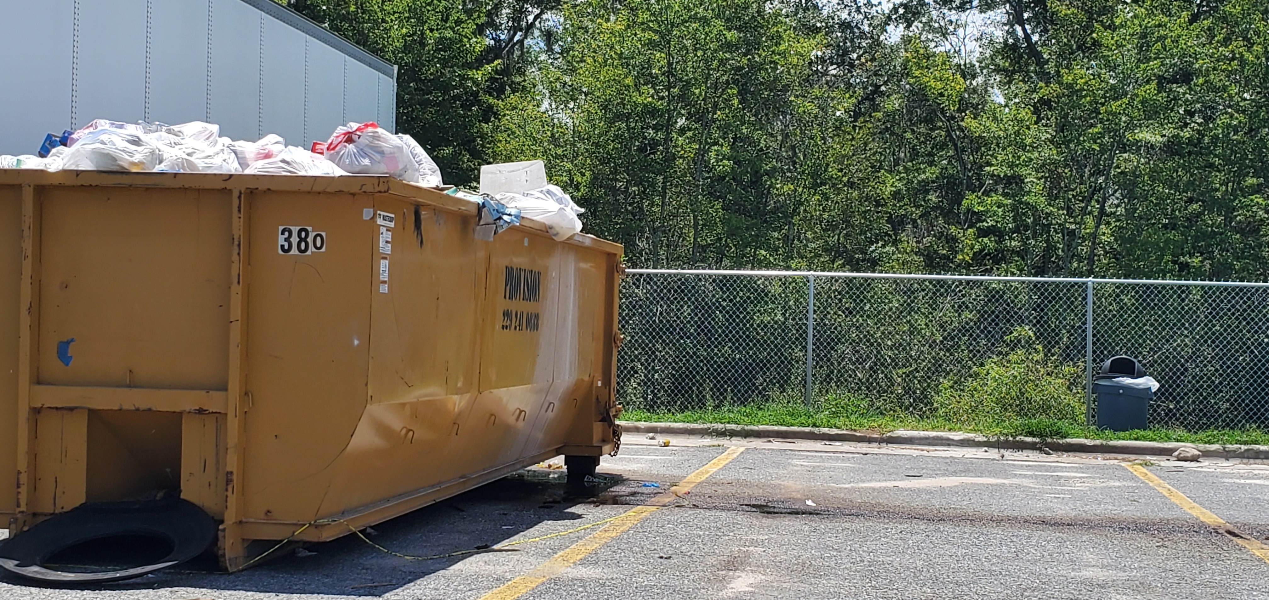
[[741,447],[728,448],[727,452],[718,455],[709,464],[700,467],[694,473],[689,474],[685,479],[679,482],[667,492],[656,495],[651,502],[645,506],[636,506],[631,509],[617,520],[604,525],[603,529],[590,534],[586,539],[570,545],[563,552],[551,557],[547,562],[538,564],[533,571],[522,575],[506,585],[481,596],[481,600],[513,600],[523,596],[529,590],[542,585],[542,582],[560,575],[561,571],[571,567],[577,561],[581,561],[591,552],[599,549],[599,547],[612,542],[614,538],[624,533],[627,529],[634,526],[636,523],[643,520],[647,515],[664,509],[670,502],[674,501],[679,495],[685,493],[692,490],[697,483],[704,481],[714,471],[721,469],[725,464],[730,463],[731,459],[740,455],[745,449]]

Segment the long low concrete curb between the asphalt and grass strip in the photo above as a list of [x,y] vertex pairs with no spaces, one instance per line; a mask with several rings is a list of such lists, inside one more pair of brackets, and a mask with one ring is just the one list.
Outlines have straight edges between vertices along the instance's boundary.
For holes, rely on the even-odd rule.
[[891,431],[878,434],[846,429],[782,427],[775,425],[702,425],[692,422],[619,421],[631,434],[702,435],[709,438],[779,438],[865,444],[943,445],[958,448],[1000,448],[1008,450],[1079,452],[1088,454],[1133,454],[1171,457],[1179,448],[1194,448],[1204,457],[1269,460],[1269,447],[1181,444],[1164,441],[1086,440],[1079,438],[1041,440],[1036,438],[990,438],[950,431]]

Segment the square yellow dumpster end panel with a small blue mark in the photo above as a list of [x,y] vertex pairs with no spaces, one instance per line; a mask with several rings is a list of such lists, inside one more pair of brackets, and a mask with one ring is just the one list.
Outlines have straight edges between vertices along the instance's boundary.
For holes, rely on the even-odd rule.
[[223,192],[44,188],[39,383],[225,389]]

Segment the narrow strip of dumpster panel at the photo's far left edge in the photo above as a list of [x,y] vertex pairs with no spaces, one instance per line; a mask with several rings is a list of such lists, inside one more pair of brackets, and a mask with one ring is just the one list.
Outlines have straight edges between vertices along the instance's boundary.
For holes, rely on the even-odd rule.
[[0,186],[0,514],[16,505],[18,303],[22,289],[22,188]]

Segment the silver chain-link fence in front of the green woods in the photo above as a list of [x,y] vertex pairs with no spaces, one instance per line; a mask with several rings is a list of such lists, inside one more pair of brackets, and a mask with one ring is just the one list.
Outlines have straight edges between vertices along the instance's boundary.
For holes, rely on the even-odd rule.
[[1151,426],[1269,426],[1269,284],[631,269],[621,327],[618,398],[647,412],[1082,425],[1126,354],[1161,383]]

